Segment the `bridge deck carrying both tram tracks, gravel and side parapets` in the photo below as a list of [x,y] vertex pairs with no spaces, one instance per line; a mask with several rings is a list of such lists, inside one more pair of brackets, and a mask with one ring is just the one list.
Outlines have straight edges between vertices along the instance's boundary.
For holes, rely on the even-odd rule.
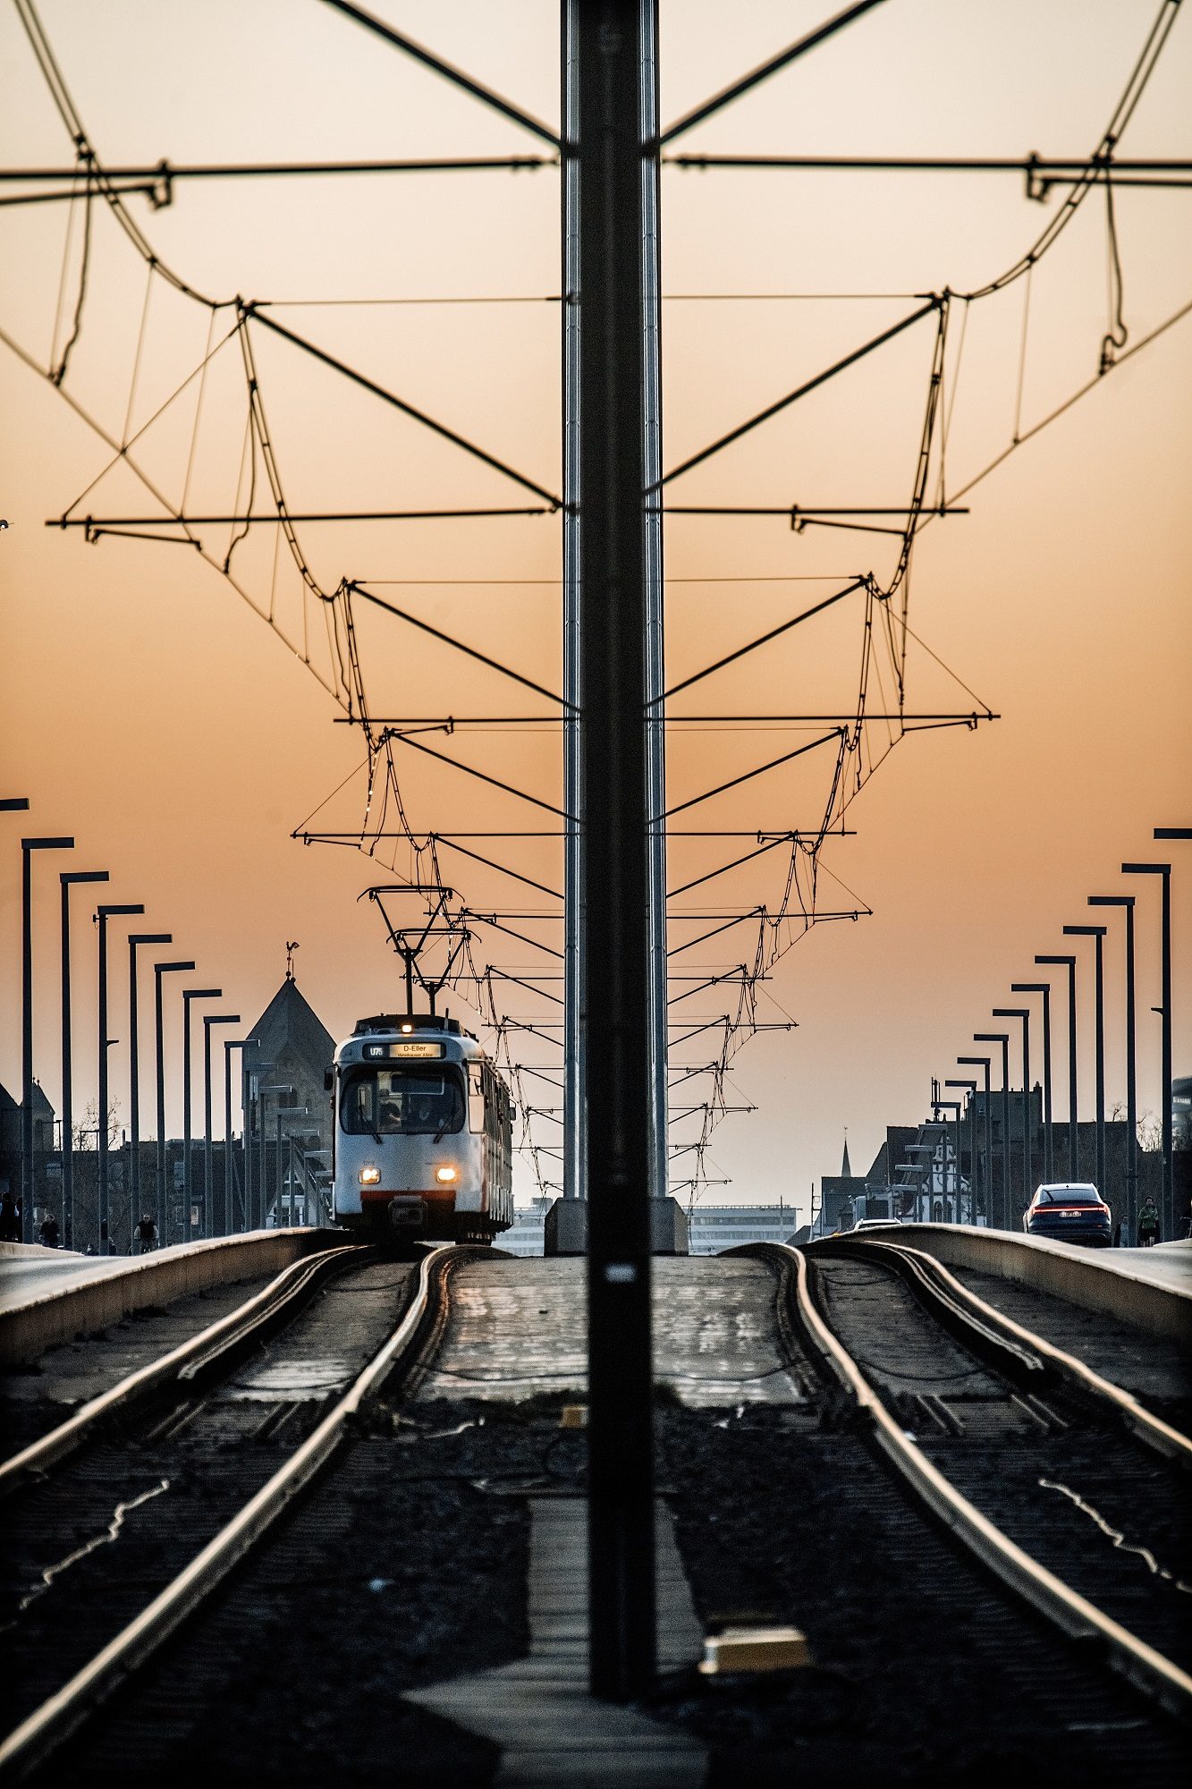
[[[585,1265],[319,1229],[0,1263],[5,1780],[1176,1780],[1192,1245],[662,1258],[655,1685],[592,1700]],[[286,1265],[279,1265],[279,1263]],[[299,1739],[301,1735],[301,1739]]]

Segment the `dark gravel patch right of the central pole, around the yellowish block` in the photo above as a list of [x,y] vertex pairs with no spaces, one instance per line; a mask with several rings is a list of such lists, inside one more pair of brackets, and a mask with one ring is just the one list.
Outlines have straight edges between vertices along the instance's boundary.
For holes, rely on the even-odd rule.
[[659,1465],[705,1624],[793,1623],[814,1655],[771,1678],[685,1673],[644,1705],[700,1734],[716,1789],[1187,1780],[1187,1734],[988,1578],[861,1438],[664,1410]]

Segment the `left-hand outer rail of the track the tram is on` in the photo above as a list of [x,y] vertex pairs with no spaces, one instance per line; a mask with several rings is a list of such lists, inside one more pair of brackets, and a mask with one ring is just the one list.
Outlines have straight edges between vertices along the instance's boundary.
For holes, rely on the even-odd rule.
[[234,1349],[268,1333],[292,1311],[297,1301],[313,1290],[315,1281],[356,1254],[360,1254],[360,1249],[338,1247],[306,1256],[301,1261],[292,1261],[268,1286],[263,1286],[254,1297],[238,1304],[227,1317],[220,1317],[218,1322],[200,1329],[188,1342],[181,1342],[168,1354],[127,1374],[118,1385],[109,1386],[98,1397],[82,1404],[81,1410],[75,1410],[66,1422],[59,1422],[48,1435],[39,1437],[39,1440],[30,1442],[20,1453],[4,1460],[0,1463],[0,1497],[11,1496],[34,1478],[43,1478],[50,1467],[59,1465],[77,1447],[93,1440],[113,1417],[125,1415],[134,1406],[145,1403],[166,1386],[170,1379],[179,1381],[179,1390],[190,1390],[186,1381],[193,1385],[199,1374],[213,1367],[217,1360],[224,1360]]

